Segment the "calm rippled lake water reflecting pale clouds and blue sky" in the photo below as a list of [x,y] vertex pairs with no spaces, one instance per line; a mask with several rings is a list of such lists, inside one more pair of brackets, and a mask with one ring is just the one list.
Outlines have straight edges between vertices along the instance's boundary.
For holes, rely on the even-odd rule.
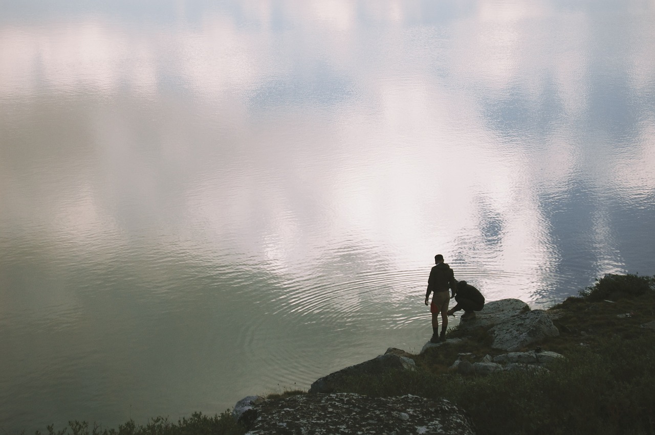
[[655,274],[654,54],[646,0],[2,2],[0,430],[419,351],[438,253]]

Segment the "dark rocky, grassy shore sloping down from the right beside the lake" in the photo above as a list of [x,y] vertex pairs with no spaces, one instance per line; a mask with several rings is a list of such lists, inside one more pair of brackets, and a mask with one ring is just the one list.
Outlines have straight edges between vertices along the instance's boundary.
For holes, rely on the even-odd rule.
[[244,398],[255,434],[655,434],[655,277],[608,274],[548,310],[489,302],[419,354],[383,355],[309,392]]

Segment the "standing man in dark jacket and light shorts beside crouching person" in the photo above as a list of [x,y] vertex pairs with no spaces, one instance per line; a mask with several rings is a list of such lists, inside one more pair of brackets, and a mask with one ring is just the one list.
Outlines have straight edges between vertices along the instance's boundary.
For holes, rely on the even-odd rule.
[[[457,281],[455,281],[453,270],[443,262],[443,255],[436,254],[434,263],[435,266],[432,266],[428,278],[425,304],[428,305],[430,293],[434,293],[432,295],[432,304],[430,304],[430,313],[432,313],[432,338],[430,338],[430,343],[439,343],[439,341],[445,341],[448,326],[448,301],[451,299],[448,288],[450,287],[453,290],[454,297]],[[441,313],[441,334],[439,334],[439,313]]]

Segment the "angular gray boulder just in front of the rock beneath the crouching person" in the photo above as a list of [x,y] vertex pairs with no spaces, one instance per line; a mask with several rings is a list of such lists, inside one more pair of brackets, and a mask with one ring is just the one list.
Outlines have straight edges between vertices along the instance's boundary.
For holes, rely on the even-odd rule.
[[541,341],[546,337],[559,336],[559,330],[543,310],[527,311],[496,324],[489,330],[493,335],[491,346],[514,352]]

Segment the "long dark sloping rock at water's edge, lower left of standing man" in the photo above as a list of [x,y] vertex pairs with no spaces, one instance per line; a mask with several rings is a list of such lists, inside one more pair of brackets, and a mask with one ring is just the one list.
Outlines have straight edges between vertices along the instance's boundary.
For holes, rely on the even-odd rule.
[[416,363],[413,359],[400,357],[393,353],[387,353],[375,357],[372,360],[360,362],[354,366],[349,366],[331,373],[312,383],[309,388],[310,393],[314,392],[333,392],[339,383],[348,376],[357,376],[362,374],[383,374],[388,370],[415,370]]

